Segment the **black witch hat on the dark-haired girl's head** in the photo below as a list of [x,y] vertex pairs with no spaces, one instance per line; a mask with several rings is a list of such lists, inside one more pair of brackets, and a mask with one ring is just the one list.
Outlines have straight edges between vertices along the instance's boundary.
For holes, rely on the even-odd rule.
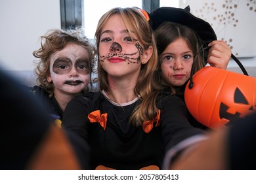
[[160,7],[150,13],[150,25],[156,30],[163,22],[175,22],[193,29],[205,45],[217,40],[215,31],[208,22],[190,13],[190,8]]

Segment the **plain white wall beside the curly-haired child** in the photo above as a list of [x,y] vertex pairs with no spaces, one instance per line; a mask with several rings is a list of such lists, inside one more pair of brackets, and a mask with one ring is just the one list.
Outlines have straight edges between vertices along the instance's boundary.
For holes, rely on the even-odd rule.
[[0,65],[33,70],[33,50],[48,29],[60,28],[60,0],[0,1]]

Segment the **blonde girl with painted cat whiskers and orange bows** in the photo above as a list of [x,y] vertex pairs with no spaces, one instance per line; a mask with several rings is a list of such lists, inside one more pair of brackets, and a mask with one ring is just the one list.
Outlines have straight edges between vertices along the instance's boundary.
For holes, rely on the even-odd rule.
[[64,112],[63,127],[91,147],[91,169],[161,169],[175,144],[205,139],[182,100],[160,90],[156,43],[142,12],[113,8],[100,18],[99,91],[75,97]]

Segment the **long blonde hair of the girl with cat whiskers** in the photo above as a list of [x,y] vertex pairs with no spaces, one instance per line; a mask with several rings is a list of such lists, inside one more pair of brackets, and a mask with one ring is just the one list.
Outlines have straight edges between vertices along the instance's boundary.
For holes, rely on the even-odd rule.
[[[137,35],[137,39],[142,44],[143,48],[147,50],[150,46],[153,48],[153,53],[148,62],[142,65],[139,78],[135,86],[135,95],[140,96],[140,103],[135,107],[131,115],[130,122],[133,125],[141,125],[146,120],[152,120],[156,117],[158,108],[156,107],[156,97],[160,86],[156,82],[155,72],[158,67],[158,51],[156,49],[156,42],[152,28],[146,20],[145,16],[137,8],[112,8],[106,12],[98,22],[95,32],[96,46],[99,47],[100,35],[102,27],[106,24],[108,19],[114,14],[119,14],[129,32],[133,31]],[[99,58],[99,53],[98,53]],[[98,86],[99,90],[108,91],[108,76],[106,71],[102,68],[98,59]]]

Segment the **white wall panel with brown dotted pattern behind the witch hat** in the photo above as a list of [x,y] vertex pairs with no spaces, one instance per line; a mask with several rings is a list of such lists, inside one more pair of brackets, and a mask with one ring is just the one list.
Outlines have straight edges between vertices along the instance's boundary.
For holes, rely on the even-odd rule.
[[[217,39],[225,41],[234,55],[242,57],[246,57],[247,55],[251,56],[251,54],[245,53],[245,51],[247,51],[246,48],[240,47],[242,43],[247,42],[243,39],[243,37],[247,38],[249,36],[249,32],[246,31],[246,29],[253,27],[253,25],[256,26],[256,0],[199,0],[197,5],[194,5],[192,0],[180,1],[181,8],[187,5],[190,5],[190,12],[192,14],[209,22],[217,35]],[[245,22],[248,21],[244,12],[246,12],[246,14],[250,13],[249,15],[247,14],[247,16],[255,20],[255,23],[253,23],[252,20],[248,23],[248,26],[244,26]],[[242,33],[241,29],[245,31],[245,33]],[[253,39],[256,41],[254,33],[251,36],[254,37]],[[242,39],[242,41],[238,41],[238,39]],[[247,39],[248,41],[253,41],[253,39]],[[252,47],[254,47],[254,45],[255,44],[253,44]],[[251,50],[253,50],[253,48],[251,48]]]

